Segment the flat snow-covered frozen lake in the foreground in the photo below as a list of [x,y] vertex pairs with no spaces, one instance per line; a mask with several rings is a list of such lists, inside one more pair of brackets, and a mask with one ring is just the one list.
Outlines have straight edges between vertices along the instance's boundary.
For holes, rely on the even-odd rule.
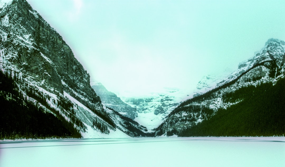
[[0,142],[0,166],[285,166],[284,137]]

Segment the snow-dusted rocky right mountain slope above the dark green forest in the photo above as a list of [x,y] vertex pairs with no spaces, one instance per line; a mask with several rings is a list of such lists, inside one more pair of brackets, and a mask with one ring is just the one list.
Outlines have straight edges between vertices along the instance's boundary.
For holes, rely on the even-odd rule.
[[[239,68],[227,79],[218,83],[216,88],[186,100],[175,108],[166,117],[164,123],[156,129],[156,136],[181,134],[200,122],[211,120],[221,109],[231,108],[233,105],[241,104],[244,100],[246,102],[248,99],[245,96],[247,95],[241,95],[235,100],[225,96],[235,93],[242,87],[256,87],[262,83],[274,85],[284,78],[284,53],[284,41],[269,39],[261,51],[253,58],[241,63]],[[281,108],[281,110],[284,112],[284,109]]]

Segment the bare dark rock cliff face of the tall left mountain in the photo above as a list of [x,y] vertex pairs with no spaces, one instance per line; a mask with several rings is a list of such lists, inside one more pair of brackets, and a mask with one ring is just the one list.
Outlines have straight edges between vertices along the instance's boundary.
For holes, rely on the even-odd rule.
[[27,1],[11,1],[1,9],[0,18],[1,54],[15,66],[15,71],[40,82],[46,89],[55,88],[51,91],[59,93],[66,91],[86,103],[80,98],[83,96],[90,105],[94,103],[92,106],[96,109],[103,109],[100,98],[89,84],[89,74],[74,58],[62,37]]

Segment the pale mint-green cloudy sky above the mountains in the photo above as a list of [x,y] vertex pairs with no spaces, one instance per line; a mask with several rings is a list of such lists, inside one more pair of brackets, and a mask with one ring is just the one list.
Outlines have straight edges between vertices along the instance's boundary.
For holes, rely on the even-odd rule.
[[250,0],[27,0],[109,91],[193,90],[285,40],[285,3]]

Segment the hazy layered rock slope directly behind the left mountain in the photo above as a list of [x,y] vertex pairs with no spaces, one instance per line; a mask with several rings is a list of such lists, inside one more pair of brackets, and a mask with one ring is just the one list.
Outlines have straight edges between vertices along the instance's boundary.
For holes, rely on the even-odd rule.
[[100,97],[102,103],[106,107],[112,108],[120,114],[131,119],[135,119],[138,116],[137,109],[135,107],[131,107],[123,102],[121,98],[117,97],[115,93],[109,92],[101,83],[94,83],[92,88],[95,90],[96,94]]

